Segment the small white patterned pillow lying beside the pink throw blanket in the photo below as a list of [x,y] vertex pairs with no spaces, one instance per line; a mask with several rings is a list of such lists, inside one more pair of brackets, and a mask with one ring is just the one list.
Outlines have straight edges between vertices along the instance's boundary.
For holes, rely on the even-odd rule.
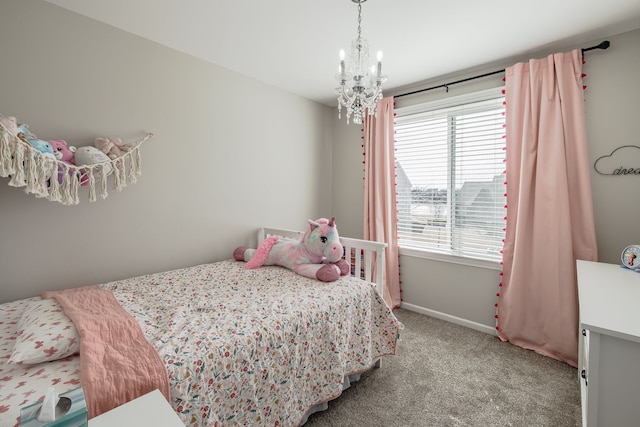
[[55,299],[42,299],[29,304],[22,313],[9,363],[34,365],[79,351],[80,337],[71,319]]

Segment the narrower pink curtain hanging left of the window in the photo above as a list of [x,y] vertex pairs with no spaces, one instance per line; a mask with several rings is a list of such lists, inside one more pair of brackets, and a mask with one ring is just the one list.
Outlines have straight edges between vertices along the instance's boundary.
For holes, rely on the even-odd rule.
[[393,97],[364,118],[364,238],[387,243],[384,299],[400,307]]

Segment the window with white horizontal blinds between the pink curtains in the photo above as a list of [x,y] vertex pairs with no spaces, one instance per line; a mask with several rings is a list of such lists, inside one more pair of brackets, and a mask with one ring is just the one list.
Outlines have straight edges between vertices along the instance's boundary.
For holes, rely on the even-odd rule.
[[400,248],[502,259],[503,102],[491,90],[397,110]]

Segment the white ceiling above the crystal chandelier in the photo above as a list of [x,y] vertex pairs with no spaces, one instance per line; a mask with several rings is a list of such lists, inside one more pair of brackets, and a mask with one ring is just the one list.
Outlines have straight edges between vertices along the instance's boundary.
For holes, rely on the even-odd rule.
[[[352,0],[46,1],[329,106],[357,33]],[[371,59],[384,52],[385,94],[398,94],[640,28],[640,1],[370,0],[361,25]]]

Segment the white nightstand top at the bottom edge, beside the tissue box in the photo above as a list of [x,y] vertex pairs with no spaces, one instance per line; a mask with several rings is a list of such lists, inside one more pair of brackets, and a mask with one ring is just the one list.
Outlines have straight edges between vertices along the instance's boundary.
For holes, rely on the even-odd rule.
[[184,427],[160,390],[140,396],[89,420],[89,427]]

